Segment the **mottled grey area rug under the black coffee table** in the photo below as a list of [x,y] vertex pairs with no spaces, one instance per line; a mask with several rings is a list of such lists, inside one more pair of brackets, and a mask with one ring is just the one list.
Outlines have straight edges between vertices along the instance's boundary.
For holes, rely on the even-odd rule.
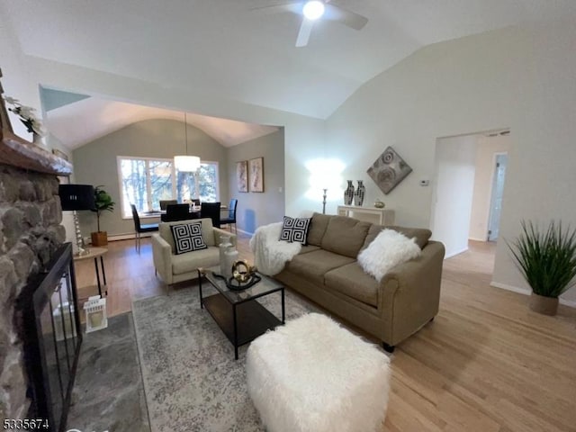
[[[280,293],[258,299],[281,317]],[[285,293],[286,320],[318,311]],[[234,347],[200,309],[198,287],[134,302],[148,416],[152,432],[264,431],[247,394],[246,350]]]

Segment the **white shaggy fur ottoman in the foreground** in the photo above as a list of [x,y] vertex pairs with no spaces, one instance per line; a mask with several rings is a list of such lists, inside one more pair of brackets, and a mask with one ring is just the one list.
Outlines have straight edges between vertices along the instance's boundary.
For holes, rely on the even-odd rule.
[[390,360],[324,315],[268,332],[247,350],[247,387],[269,432],[382,429]]

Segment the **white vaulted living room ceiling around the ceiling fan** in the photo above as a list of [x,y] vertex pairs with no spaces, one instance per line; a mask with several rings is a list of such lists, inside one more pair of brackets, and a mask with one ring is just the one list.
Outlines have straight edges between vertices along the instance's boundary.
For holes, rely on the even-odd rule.
[[[415,50],[509,25],[576,17],[574,0],[333,0],[361,31],[255,10],[278,0],[0,0],[23,53],[320,119]],[[3,15],[4,15],[3,14]]]

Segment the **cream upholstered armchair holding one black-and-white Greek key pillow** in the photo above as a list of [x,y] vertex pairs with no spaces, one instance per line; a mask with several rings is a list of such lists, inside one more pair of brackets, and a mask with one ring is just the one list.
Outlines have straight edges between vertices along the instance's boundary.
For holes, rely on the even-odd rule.
[[[176,255],[172,225],[202,222],[202,238],[207,249],[195,250]],[[211,219],[179,220],[177,222],[162,222],[157,234],[152,235],[152,256],[157,275],[160,275],[169,287],[178,282],[198,277],[199,267],[218,266],[220,264],[220,236],[230,238],[230,243],[236,246],[236,236],[224,229],[212,227]],[[167,289],[167,288],[166,288]]]

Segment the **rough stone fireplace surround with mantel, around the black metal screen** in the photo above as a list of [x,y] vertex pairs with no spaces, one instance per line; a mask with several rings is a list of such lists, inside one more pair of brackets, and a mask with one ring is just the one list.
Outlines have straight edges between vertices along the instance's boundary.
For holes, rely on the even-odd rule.
[[[0,87],[0,94],[1,94]],[[0,98],[0,101],[2,99]],[[0,103],[2,105],[3,103]],[[4,109],[4,106],[0,108]],[[58,175],[72,166],[16,137],[0,109],[0,421],[23,419],[31,401],[23,364],[23,318],[15,302],[64,242]]]

